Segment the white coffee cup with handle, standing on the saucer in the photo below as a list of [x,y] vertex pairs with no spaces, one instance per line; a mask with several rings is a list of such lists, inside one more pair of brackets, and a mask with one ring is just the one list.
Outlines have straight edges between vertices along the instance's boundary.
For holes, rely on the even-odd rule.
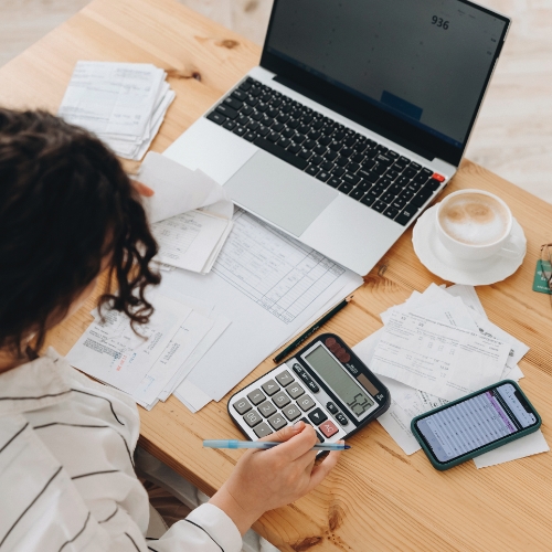
[[[453,198],[456,198],[465,193],[477,193],[481,195],[488,195],[489,198],[492,198],[495,201],[497,201],[503,206],[505,212],[507,213],[508,216],[508,221],[507,221],[506,232],[499,240],[490,244],[480,244],[480,245],[468,244],[455,240],[445,232],[439,222],[439,213],[442,209],[445,208]],[[510,208],[493,193],[489,193],[484,190],[471,190],[471,189],[459,190],[458,192],[450,193],[438,204],[435,211],[435,217],[436,217],[437,234],[439,236],[440,242],[453,255],[455,255],[458,258],[479,261],[482,258],[491,257],[492,255],[500,255],[502,257],[509,257],[509,258],[518,258],[521,255],[523,255],[526,251],[524,242],[518,238],[517,236],[511,235],[513,216],[512,212],[510,211]]]

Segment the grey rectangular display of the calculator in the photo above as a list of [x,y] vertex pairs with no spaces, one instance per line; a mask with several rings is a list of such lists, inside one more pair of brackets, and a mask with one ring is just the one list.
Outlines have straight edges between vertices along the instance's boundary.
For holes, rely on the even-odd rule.
[[304,359],[358,418],[363,417],[375,404],[322,346],[306,354]]

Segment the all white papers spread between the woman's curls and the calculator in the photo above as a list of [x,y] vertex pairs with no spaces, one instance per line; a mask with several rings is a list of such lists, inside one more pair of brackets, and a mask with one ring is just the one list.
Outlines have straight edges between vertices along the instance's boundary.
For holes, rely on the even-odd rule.
[[197,412],[220,401],[362,283],[359,275],[238,210],[210,274],[177,268],[163,275],[149,298],[155,314],[138,327],[144,338],[126,316],[109,311],[102,322],[93,312],[95,320],[67,359],[146,408],[174,391]]

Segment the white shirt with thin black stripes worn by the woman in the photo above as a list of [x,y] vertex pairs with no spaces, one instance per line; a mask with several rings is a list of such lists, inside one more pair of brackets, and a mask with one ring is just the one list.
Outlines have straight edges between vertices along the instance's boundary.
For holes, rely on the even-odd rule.
[[238,552],[232,520],[203,505],[146,540],[134,470],[139,416],[54,350],[0,374],[0,552]]

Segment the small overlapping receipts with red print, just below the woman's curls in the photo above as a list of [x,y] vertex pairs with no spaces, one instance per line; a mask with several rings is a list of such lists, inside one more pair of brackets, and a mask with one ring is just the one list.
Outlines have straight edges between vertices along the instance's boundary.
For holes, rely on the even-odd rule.
[[183,296],[153,293],[155,314],[137,335],[128,318],[109,310],[94,321],[67,354],[70,363],[131,395],[150,410],[166,401],[230,325],[213,306]]

